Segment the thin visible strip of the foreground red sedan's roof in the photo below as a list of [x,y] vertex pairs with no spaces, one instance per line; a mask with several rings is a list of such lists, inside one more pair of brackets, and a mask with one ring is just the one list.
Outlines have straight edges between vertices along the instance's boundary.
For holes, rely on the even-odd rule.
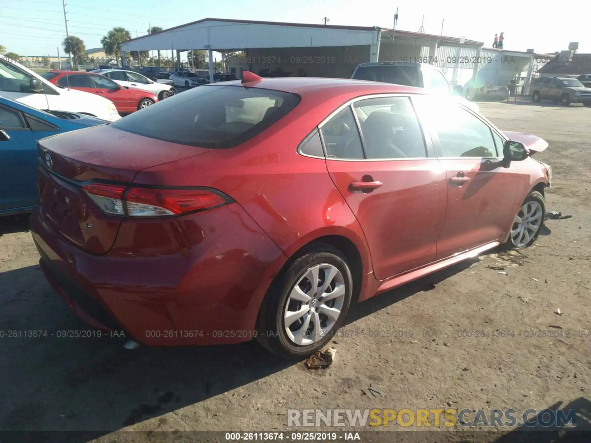
[[[243,86],[241,80],[232,80],[223,84]],[[326,92],[328,90],[332,90],[335,93],[359,93],[359,95],[372,93],[425,93],[425,90],[422,88],[401,86],[400,84],[370,82],[368,80],[327,79],[324,77],[269,77],[259,82],[246,83],[246,85],[248,87],[291,92],[298,95],[308,95],[317,92]],[[216,87],[216,85],[206,84],[201,87]]]

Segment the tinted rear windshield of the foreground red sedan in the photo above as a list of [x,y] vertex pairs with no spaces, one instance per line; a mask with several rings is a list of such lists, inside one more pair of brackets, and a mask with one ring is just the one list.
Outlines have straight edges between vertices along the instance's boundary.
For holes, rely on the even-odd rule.
[[242,86],[201,86],[134,112],[113,128],[202,148],[232,148],[300,102],[292,93]]

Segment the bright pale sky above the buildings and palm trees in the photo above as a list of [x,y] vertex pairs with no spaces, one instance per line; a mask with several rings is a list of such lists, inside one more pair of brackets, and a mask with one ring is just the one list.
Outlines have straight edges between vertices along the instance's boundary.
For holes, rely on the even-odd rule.
[[[591,2],[573,8],[541,8],[540,2],[496,0],[67,0],[70,35],[84,40],[86,48],[100,47],[100,39],[113,26],[122,26],[133,37],[147,34],[148,26],[173,27],[202,18],[323,23],[330,25],[391,28],[398,8],[397,29],[418,31],[421,21],[427,34],[465,37],[491,47],[495,33],[504,32],[504,48],[538,53],[566,50],[579,42],[579,53],[591,53],[591,34],[584,20]],[[20,56],[63,55],[66,36],[61,0],[0,0],[0,45]],[[585,37],[587,37],[585,39]],[[182,57],[181,57],[182,58]]]

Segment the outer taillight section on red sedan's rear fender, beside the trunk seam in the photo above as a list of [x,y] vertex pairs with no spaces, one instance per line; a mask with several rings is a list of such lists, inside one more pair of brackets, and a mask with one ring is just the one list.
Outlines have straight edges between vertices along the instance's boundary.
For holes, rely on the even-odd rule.
[[225,203],[219,195],[201,189],[131,188],[125,194],[130,216],[172,216],[209,209]]

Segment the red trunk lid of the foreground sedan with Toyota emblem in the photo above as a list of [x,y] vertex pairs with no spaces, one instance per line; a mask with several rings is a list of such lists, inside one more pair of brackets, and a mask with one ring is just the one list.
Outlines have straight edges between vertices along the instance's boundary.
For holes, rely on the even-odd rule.
[[90,181],[132,183],[138,171],[208,151],[109,125],[42,139],[38,145],[41,214],[70,242],[90,253],[105,254],[124,217],[103,213],[82,185]]

